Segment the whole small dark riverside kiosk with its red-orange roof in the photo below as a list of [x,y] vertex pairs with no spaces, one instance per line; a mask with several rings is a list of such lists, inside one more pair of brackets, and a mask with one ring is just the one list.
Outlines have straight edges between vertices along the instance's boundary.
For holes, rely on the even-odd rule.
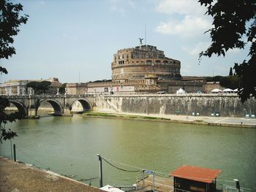
[[171,172],[174,192],[215,192],[216,179],[222,171],[199,166],[184,165]]

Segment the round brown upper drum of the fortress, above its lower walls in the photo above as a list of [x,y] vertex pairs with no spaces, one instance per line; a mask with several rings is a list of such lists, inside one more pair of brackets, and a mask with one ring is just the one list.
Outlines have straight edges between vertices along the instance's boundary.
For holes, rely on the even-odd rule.
[[180,80],[181,62],[165,57],[151,45],[118,50],[111,64],[112,80],[138,80],[154,75],[159,80]]

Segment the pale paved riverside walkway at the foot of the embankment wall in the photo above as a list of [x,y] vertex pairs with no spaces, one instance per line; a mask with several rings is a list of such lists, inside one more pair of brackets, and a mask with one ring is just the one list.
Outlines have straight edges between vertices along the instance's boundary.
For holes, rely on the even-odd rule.
[[[113,112],[108,112],[113,113]],[[227,117],[204,117],[187,115],[158,115],[158,114],[140,114],[129,112],[116,112],[116,115],[138,115],[155,118],[167,118],[169,120],[184,123],[206,123],[217,126],[241,126],[256,128],[256,118],[227,118]]]

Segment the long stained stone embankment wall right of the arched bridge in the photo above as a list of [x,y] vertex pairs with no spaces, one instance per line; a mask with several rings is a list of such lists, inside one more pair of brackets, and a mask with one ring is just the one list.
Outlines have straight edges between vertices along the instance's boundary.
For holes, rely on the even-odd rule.
[[98,96],[95,111],[132,112],[143,114],[245,117],[256,114],[256,99],[244,104],[236,94],[163,94]]

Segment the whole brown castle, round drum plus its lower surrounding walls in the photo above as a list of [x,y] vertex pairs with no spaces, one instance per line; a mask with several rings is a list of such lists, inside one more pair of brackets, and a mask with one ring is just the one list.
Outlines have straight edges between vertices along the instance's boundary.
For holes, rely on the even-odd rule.
[[87,93],[187,93],[203,92],[206,80],[181,77],[181,62],[167,58],[151,45],[118,50],[111,64],[112,80],[87,83]]

